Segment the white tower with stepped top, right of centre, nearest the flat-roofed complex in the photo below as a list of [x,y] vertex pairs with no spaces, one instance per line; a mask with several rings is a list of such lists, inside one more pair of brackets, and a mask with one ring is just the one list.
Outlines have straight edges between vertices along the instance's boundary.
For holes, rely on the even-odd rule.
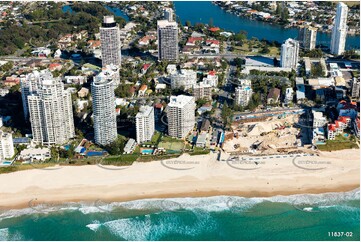
[[297,40],[287,39],[281,46],[281,67],[296,69],[300,44]]

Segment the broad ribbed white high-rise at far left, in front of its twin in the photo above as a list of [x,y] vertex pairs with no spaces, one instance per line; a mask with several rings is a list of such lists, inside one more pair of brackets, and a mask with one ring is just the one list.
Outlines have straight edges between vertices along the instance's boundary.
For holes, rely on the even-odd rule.
[[49,71],[34,74],[37,78],[28,79],[27,85],[36,88],[27,93],[27,103],[23,104],[29,111],[33,141],[63,144],[75,136],[71,93]]

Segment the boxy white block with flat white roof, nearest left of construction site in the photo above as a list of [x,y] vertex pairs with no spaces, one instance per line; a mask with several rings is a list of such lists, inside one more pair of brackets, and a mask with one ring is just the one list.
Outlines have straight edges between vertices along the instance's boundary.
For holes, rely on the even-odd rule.
[[195,124],[194,98],[185,95],[171,96],[167,108],[168,134],[177,138],[186,137]]

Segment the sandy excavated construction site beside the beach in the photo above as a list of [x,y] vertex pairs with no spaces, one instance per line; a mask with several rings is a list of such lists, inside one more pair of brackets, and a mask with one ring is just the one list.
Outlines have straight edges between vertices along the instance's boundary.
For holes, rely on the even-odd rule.
[[294,125],[300,114],[281,114],[265,120],[235,122],[226,133],[223,150],[227,153],[277,154],[299,153],[301,129]]

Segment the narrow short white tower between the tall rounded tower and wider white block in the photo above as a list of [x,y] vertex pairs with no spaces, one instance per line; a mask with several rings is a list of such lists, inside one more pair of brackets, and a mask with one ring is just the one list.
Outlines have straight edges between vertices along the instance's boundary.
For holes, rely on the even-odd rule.
[[150,141],[154,134],[154,108],[151,106],[141,106],[139,112],[135,116],[137,143],[141,144]]

